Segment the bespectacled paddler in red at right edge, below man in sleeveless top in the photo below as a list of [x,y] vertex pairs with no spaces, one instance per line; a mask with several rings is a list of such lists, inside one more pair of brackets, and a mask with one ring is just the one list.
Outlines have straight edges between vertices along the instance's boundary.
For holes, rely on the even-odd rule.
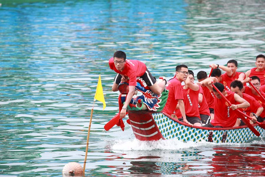
[[[250,81],[250,79],[252,79]],[[260,90],[260,79],[258,76],[252,76],[252,77],[247,77],[246,79],[244,79],[244,81],[241,81],[242,83],[249,83],[251,82],[253,84],[253,86],[259,91],[259,93],[265,98],[265,93],[263,91]],[[255,89],[252,86],[244,86],[243,90],[244,93],[254,97],[259,104],[261,104],[261,106],[263,107],[263,112],[260,114],[259,117],[257,118],[258,122],[262,122],[264,121],[264,117],[265,117],[265,101],[263,100],[263,98],[261,96],[259,96],[259,94],[255,91]]]

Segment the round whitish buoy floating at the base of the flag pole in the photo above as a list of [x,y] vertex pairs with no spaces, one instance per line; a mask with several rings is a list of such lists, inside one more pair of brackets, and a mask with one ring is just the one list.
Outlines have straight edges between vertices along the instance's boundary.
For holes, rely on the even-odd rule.
[[82,177],[83,176],[83,168],[79,163],[76,162],[70,162],[64,165],[63,171],[62,171],[63,177],[67,176],[76,176],[76,177]]

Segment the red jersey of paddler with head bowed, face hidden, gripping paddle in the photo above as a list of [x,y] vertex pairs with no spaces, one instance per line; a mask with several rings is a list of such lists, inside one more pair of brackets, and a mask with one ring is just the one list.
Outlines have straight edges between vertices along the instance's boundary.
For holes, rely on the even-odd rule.
[[[231,91],[226,91],[226,98],[231,104],[236,104],[234,94]],[[219,125],[222,127],[233,127],[236,124],[237,114],[235,110],[230,109],[229,104],[225,99],[214,98],[214,119],[211,121],[213,126]]]

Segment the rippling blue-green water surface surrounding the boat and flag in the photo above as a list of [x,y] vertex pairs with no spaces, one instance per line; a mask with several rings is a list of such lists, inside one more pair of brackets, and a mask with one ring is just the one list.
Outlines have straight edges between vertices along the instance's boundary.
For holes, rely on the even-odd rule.
[[117,112],[115,50],[154,76],[177,64],[196,74],[211,63],[254,67],[264,52],[264,2],[0,1],[0,176],[61,176],[83,165],[90,110],[101,74],[107,107],[96,102],[86,176],[264,176],[264,139],[245,144],[139,142],[104,125]]

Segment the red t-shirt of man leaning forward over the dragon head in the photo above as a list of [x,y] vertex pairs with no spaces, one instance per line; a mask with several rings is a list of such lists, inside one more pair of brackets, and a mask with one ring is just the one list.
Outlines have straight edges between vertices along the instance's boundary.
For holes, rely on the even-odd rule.
[[124,64],[124,69],[122,72],[116,69],[113,57],[109,60],[110,69],[114,70],[118,74],[128,76],[129,86],[136,86],[136,78],[143,76],[146,71],[145,63],[139,60],[126,60]]

